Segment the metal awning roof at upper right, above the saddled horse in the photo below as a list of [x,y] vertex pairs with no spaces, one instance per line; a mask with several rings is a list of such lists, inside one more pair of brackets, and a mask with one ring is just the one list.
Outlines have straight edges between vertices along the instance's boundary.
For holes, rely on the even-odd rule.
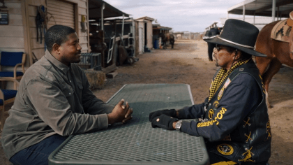
[[[272,15],[272,0],[246,0],[228,8],[229,14],[242,15],[245,5],[245,15],[267,16]],[[276,17],[289,17],[293,10],[293,0],[276,0]]]

